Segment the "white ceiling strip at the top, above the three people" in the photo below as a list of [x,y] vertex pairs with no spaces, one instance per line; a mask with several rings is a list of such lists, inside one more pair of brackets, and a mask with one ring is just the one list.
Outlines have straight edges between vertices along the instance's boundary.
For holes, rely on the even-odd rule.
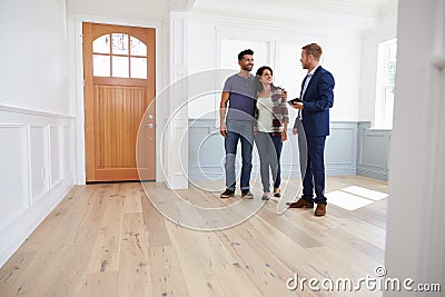
[[[178,1],[178,0],[176,0]],[[182,0],[189,11],[243,19],[317,22],[322,27],[369,29],[380,13],[396,13],[397,0]]]

